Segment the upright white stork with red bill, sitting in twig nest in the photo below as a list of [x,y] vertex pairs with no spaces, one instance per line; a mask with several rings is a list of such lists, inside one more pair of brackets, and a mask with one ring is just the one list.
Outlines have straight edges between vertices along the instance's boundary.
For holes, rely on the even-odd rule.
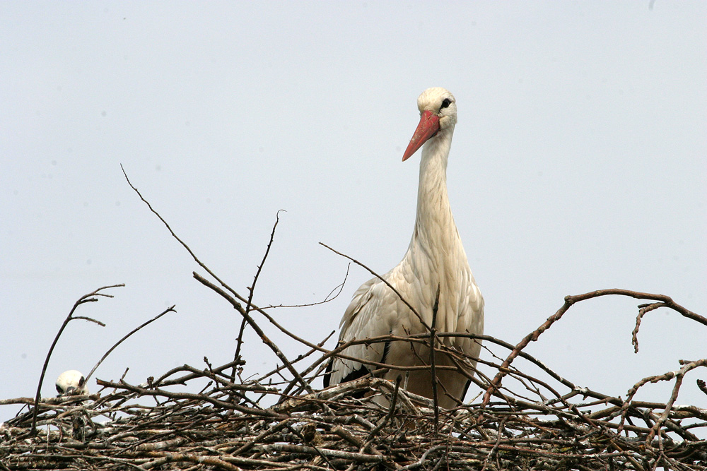
[[[428,88],[417,99],[417,107],[420,123],[402,157],[403,161],[407,160],[424,144],[415,227],[402,261],[382,278],[402,294],[427,326],[432,325],[433,304],[439,285],[437,331],[481,334],[484,331],[484,299],[469,269],[447,195],[447,159],[457,124],[457,103],[444,88]],[[363,283],[354,293],[340,327],[339,345],[378,335],[428,333],[419,318],[378,278]],[[441,341],[474,359],[481,350],[479,341],[469,338],[446,337]],[[402,341],[354,345],[342,354],[398,366],[426,365],[429,359],[428,348]],[[444,354],[437,354],[435,363],[452,365]],[[471,371],[475,363],[467,365],[467,371]],[[334,358],[327,367],[324,385],[351,381],[369,372],[370,366]],[[394,380],[401,374],[406,378],[404,371],[391,369],[382,377]],[[469,380],[457,371],[444,369],[437,370],[437,377],[440,407],[456,407],[464,399]],[[430,370],[410,371],[407,390],[432,398]]]

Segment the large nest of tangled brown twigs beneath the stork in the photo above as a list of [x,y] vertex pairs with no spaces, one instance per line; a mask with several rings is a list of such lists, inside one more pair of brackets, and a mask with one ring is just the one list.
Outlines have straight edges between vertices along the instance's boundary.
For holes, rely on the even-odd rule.
[[[686,375],[707,366],[707,359],[682,362],[679,370],[643,378],[625,397],[612,397],[576,386],[523,352],[573,304],[609,294],[649,301],[639,306],[636,348],[641,318],[660,307],[707,326],[707,318],[670,297],[627,290],[566,297],[556,314],[517,345],[469,334],[484,342],[479,364],[493,378],[477,371],[469,377],[476,384],[471,389],[480,391],[472,403],[440,410],[436,400],[407,393],[402,377],[391,383],[368,376],[315,390],[329,359],[351,342],[329,351],[324,342],[299,338],[252,304],[257,275],[251,297],[241,297],[194,258],[216,283],[197,273],[194,278],[228,300],[281,366],[257,378],[240,378],[239,337],[234,362],[214,367],[204,359],[204,368],[185,365],[137,386],[99,379],[103,389],[93,395],[41,400],[42,372],[35,399],[0,401],[23,405],[0,426],[0,470],[707,469],[707,410],[676,405]],[[103,290],[76,302],[57,340],[66,324],[79,318],[74,316],[78,306],[109,296]],[[264,322],[308,351],[286,358],[265,335],[259,325]],[[433,331],[405,341],[426,342],[436,346],[436,353],[467,362],[460,352],[445,348],[439,340],[444,335]],[[399,338],[359,342],[389,340]],[[519,357],[522,369],[521,362],[514,363]],[[657,381],[673,385],[665,403],[634,399],[643,385]],[[707,394],[705,383],[697,382]]]

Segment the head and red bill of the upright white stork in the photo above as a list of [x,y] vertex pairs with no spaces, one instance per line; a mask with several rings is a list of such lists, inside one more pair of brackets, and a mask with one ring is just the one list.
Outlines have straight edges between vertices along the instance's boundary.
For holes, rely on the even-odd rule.
[[444,88],[433,87],[423,91],[417,98],[417,107],[420,110],[420,124],[402,156],[403,162],[437,133],[454,129],[457,124],[457,100]]

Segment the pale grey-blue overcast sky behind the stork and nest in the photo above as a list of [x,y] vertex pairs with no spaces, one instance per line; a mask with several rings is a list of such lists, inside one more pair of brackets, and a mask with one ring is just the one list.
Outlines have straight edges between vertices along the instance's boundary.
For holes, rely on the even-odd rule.
[[[324,299],[347,261],[318,242],[395,266],[419,172],[419,154],[401,158],[431,86],[457,98],[448,186],[487,334],[515,344],[565,295],[611,287],[706,315],[706,20],[702,1],[1,2],[0,398],[33,396],[76,299],[116,283],[77,313],[105,328],[69,324],[43,395],[172,304],[95,376],[129,367],[141,383],[233,358],[240,318],[193,280],[203,270],[121,164],[243,295],[287,211],[256,304]],[[352,266],[334,301],[272,314],[322,340],[368,278]],[[706,328],[667,309],[644,318],[633,354],[640,303],[580,303],[527,352],[610,395],[706,356]],[[262,326],[288,356],[305,351]],[[252,335],[244,357],[249,374],[276,364]],[[707,407],[696,378],[677,402]]]

